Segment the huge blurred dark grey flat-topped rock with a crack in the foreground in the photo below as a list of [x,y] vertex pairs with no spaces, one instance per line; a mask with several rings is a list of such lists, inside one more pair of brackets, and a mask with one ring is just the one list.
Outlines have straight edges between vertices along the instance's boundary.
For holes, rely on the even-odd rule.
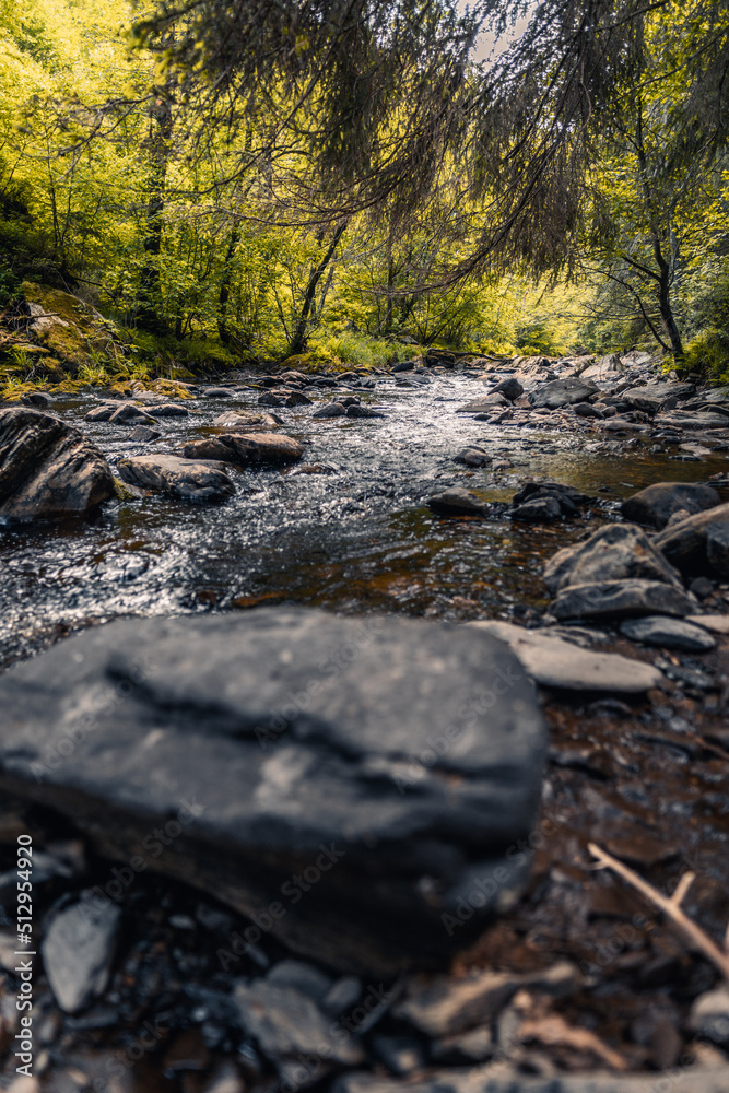
[[125,619],[12,667],[0,705],[0,791],[126,865],[166,826],[146,868],[251,916],[246,942],[384,975],[447,961],[522,891],[506,851],[532,830],[545,733],[489,634],[307,609]]

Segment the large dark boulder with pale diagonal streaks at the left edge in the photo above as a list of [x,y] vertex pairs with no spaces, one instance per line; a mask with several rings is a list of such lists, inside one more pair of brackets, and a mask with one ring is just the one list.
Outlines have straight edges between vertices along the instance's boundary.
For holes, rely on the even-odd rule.
[[106,459],[54,414],[0,410],[0,520],[78,516],[114,496]]

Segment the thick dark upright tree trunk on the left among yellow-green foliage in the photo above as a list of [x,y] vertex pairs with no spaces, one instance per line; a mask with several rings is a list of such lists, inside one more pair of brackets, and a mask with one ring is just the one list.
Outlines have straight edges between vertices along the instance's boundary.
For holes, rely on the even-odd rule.
[[150,107],[150,196],[146,202],[146,256],[140,277],[137,324],[151,333],[166,333],[167,322],[162,314],[162,282],[160,263],[162,230],[165,208],[165,184],[169,138],[172,137],[172,106],[166,98],[156,98]]

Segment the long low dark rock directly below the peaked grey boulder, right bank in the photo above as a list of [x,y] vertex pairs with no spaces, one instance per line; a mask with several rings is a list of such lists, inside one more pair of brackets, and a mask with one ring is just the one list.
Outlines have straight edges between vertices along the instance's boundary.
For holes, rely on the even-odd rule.
[[568,585],[550,608],[555,619],[625,619],[634,615],[683,616],[696,601],[680,588],[660,580],[601,580]]

